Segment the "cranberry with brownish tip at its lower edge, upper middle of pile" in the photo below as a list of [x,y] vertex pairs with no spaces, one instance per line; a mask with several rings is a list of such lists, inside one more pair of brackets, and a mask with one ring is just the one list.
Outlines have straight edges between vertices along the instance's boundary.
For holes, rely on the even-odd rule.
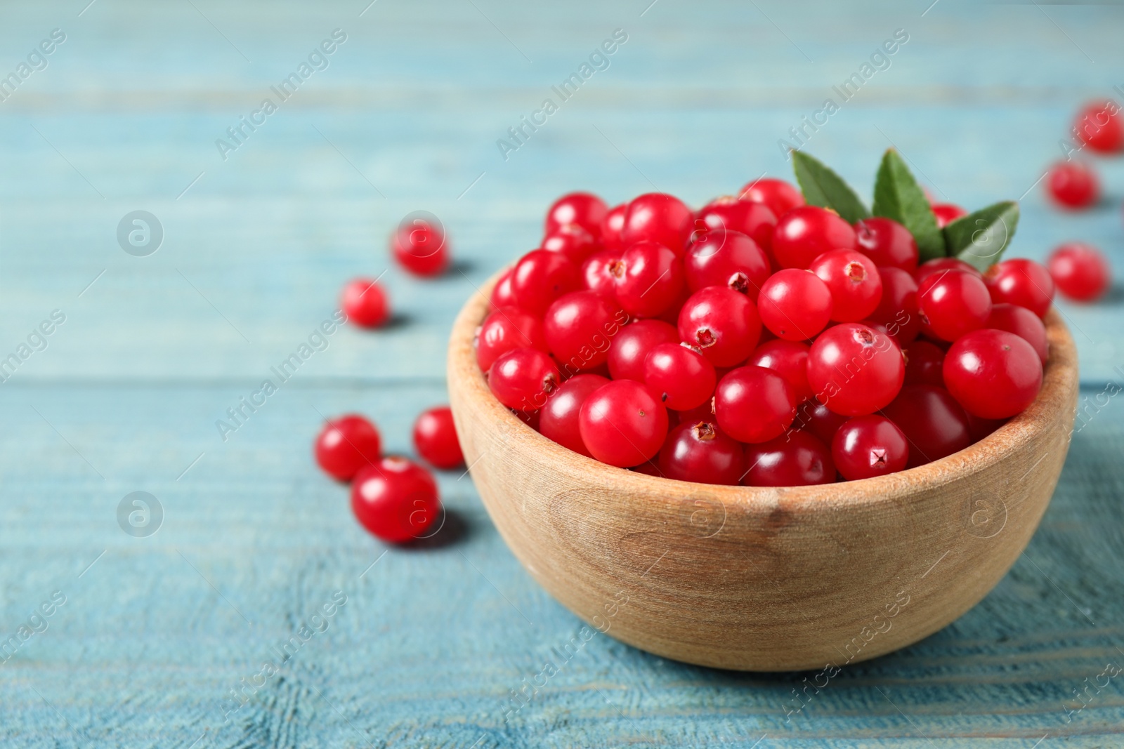
[[709,229],[687,250],[683,270],[692,292],[729,286],[755,302],[761,284],[769,277],[769,257],[740,231]]

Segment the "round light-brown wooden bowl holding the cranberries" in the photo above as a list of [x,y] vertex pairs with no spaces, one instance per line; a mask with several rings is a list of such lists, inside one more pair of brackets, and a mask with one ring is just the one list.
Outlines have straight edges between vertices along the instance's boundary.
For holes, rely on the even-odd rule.
[[472,478],[527,572],[591,627],[643,650],[832,676],[916,642],[999,582],[1058,483],[1078,376],[1054,311],[1037,400],[967,449],[880,478],[716,486],[598,463],[500,405],[472,346],[495,282],[461,310],[448,348]]

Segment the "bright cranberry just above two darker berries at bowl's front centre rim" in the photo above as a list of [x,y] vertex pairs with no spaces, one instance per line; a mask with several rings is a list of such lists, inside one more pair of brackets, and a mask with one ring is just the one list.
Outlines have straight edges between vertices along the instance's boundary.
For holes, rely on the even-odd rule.
[[714,413],[722,430],[740,442],[779,437],[796,418],[792,386],[764,367],[731,371],[714,393]]

